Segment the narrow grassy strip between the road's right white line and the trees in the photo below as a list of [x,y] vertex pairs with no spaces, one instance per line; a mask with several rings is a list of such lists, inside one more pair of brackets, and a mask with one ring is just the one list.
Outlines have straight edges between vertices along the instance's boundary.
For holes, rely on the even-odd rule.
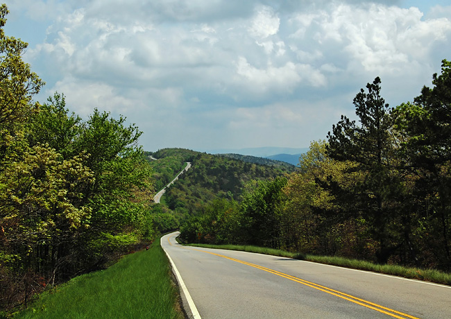
[[394,275],[399,277],[405,277],[410,279],[425,280],[427,282],[435,282],[436,284],[445,284],[451,286],[451,274],[443,273],[440,270],[434,269],[420,269],[420,268],[407,268],[398,265],[380,265],[373,264],[370,261],[362,261],[357,259],[346,259],[343,257],[327,257],[327,256],[315,256],[305,255],[295,252],[286,252],[284,250],[277,250],[271,248],[262,248],[250,245],[205,245],[205,244],[189,244],[198,247],[205,248],[218,248],[228,250],[241,250],[245,252],[257,252],[264,255],[273,255],[280,257],[288,257],[293,259],[302,259],[305,261],[313,261],[320,264],[327,264],[333,266],[341,266],[352,269],[368,270],[375,273],[384,273],[387,275]]

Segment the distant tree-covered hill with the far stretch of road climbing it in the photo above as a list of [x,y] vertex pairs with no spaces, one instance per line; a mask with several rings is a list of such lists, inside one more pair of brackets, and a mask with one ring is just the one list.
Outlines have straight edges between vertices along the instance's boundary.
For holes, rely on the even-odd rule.
[[203,205],[215,198],[239,200],[245,184],[250,180],[274,178],[296,169],[295,166],[274,161],[269,166],[181,148],[164,148],[146,155],[158,159],[149,161],[154,176],[160,178],[155,183],[163,187],[170,181],[170,176],[173,178],[182,169],[185,162],[192,162],[192,169],[183,174],[164,195],[167,207],[178,218],[197,214]]

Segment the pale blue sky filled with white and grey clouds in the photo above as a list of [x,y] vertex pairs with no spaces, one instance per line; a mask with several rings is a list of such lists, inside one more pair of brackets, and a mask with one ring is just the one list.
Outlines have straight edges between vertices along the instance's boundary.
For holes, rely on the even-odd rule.
[[121,114],[151,151],[309,147],[375,77],[395,107],[451,60],[451,0],[0,2],[35,101]]

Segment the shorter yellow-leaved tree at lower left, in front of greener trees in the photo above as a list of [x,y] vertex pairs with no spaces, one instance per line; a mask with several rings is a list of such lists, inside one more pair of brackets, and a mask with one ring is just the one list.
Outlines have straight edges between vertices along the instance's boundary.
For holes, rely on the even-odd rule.
[[87,227],[91,210],[79,205],[83,194],[76,184],[92,184],[93,176],[82,162],[34,146],[1,175],[0,220],[16,270],[55,273],[77,230]]

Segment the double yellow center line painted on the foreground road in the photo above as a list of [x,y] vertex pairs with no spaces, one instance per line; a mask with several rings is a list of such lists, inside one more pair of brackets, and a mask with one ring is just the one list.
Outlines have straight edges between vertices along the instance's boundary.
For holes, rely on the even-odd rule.
[[[193,248],[190,248],[190,249],[193,249]],[[193,249],[193,250],[196,250],[198,252],[205,252],[205,253],[210,254],[210,255],[215,255],[215,256],[218,256],[218,257],[225,258],[225,259],[236,261],[237,263],[244,264],[244,265],[247,265],[247,266],[250,266],[250,267],[253,267],[253,268],[264,270],[264,271],[266,271],[268,273],[272,273],[274,275],[278,275],[280,277],[284,277],[284,278],[287,278],[289,280],[292,280],[293,282],[298,282],[299,284],[303,284],[305,286],[309,286],[311,288],[315,288],[315,289],[317,289],[319,291],[323,291],[324,293],[329,293],[330,295],[334,295],[334,296],[337,296],[337,297],[342,298],[344,300],[348,300],[350,302],[353,302],[355,304],[359,304],[360,306],[363,306],[363,307],[366,307],[366,308],[369,308],[369,309],[373,309],[375,311],[379,311],[380,313],[384,313],[384,314],[386,314],[388,316],[391,316],[393,318],[398,318],[398,319],[406,319],[406,318],[419,319],[417,317],[410,316],[407,313],[402,313],[400,311],[396,311],[396,310],[393,310],[393,309],[381,306],[380,304],[375,304],[374,302],[369,302],[367,300],[363,300],[361,298],[357,298],[357,297],[355,297],[353,295],[348,295],[347,293],[342,293],[341,291],[336,291],[334,289],[327,288],[327,287],[321,286],[319,284],[315,284],[314,282],[308,282],[307,280],[300,279],[298,277],[293,277],[293,276],[287,275],[285,273],[280,273],[280,271],[277,271],[277,270],[273,270],[273,269],[266,268],[266,267],[263,267],[263,266],[259,266],[259,265],[256,265],[256,264],[251,264],[251,263],[248,263],[247,261],[242,261],[242,260],[235,259],[235,258],[232,258],[232,257],[219,255],[219,254],[216,254],[214,252],[207,252],[205,250],[197,250],[197,249]]]

